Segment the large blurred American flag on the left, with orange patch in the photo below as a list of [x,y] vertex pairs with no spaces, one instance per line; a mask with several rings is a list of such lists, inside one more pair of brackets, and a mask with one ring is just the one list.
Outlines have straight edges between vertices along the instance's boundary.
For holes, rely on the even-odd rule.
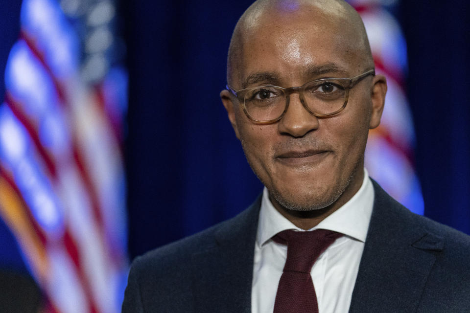
[[0,215],[46,312],[116,313],[127,277],[123,44],[111,0],[24,0],[0,105]]

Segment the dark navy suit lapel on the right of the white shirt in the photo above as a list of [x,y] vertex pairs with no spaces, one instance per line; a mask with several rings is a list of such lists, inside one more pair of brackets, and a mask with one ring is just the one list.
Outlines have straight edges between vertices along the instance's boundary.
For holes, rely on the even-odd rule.
[[356,283],[353,312],[416,312],[443,240],[374,182],[374,210]]

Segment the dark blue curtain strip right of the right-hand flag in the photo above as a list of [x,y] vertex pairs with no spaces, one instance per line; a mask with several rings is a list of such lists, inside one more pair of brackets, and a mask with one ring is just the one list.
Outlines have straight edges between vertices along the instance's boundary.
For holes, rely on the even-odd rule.
[[402,1],[424,215],[470,234],[470,2]]

